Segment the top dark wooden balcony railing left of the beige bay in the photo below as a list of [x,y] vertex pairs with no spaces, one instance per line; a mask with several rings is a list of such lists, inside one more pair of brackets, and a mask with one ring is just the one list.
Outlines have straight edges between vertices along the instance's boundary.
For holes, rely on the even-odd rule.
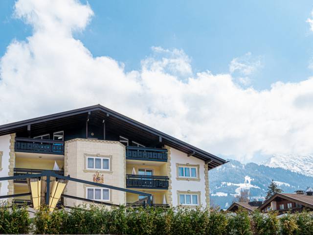
[[15,151],[64,155],[64,141],[15,138]]

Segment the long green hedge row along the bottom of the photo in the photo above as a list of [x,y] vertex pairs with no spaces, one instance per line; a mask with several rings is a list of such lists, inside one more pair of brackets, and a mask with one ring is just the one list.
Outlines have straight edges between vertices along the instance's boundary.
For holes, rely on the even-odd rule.
[[236,214],[200,209],[74,207],[29,218],[26,207],[0,207],[0,234],[312,235],[313,213]]

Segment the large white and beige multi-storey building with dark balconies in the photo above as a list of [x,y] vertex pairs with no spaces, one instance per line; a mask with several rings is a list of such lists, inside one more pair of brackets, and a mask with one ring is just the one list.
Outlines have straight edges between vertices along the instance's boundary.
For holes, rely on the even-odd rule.
[[[208,170],[225,163],[101,105],[0,126],[0,177],[54,168],[61,175],[151,193],[155,205],[209,207]],[[28,192],[25,180],[0,183],[0,195]],[[75,182],[64,193],[118,205],[141,199]]]

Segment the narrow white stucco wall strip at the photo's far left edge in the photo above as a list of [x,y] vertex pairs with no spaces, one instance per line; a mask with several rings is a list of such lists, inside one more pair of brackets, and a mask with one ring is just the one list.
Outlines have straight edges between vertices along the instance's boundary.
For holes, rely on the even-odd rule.
[[[2,155],[2,165],[0,168],[0,177],[9,176],[9,159],[10,159],[10,135],[0,136],[0,151]],[[0,195],[7,195],[8,193],[8,181],[0,181]]]

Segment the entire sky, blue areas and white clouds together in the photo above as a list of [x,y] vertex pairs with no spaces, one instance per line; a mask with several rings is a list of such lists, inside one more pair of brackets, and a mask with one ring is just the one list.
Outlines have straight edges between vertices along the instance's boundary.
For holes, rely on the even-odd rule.
[[0,124],[100,103],[224,158],[313,153],[312,10],[2,0]]

